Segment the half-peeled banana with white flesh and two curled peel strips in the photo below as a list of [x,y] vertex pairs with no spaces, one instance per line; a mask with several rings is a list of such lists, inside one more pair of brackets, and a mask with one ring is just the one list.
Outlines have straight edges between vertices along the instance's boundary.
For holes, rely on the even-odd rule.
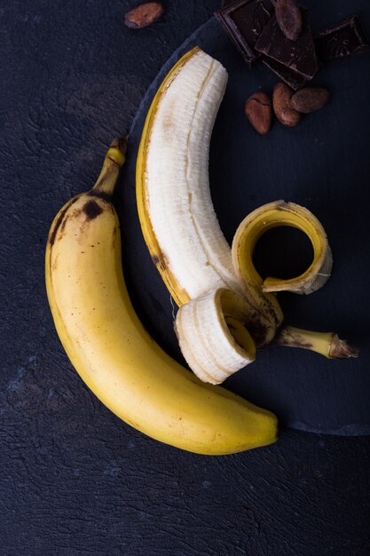
[[[309,210],[295,203],[277,201],[260,207],[241,222],[232,249],[226,242],[209,190],[209,142],[226,83],[220,62],[198,47],[186,52],[164,78],[148,110],[137,159],[141,229],[154,264],[180,307],[175,322],[179,345],[191,369],[213,383],[235,369],[230,342],[220,342],[211,360],[206,356],[210,323],[215,338],[225,333],[223,309],[214,305],[216,291],[237,294],[239,314],[244,316],[237,319],[234,330],[244,338],[249,333],[260,348],[272,342],[283,322],[274,292],[318,290],[327,282],[333,263],[324,228]],[[301,276],[283,281],[263,280],[257,274],[253,250],[273,226],[295,226],[309,236],[314,257]],[[205,299],[210,304],[209,319],[201,322],[196,311],[204,307]],[[305,333],[300,330],[302,338]],[[314,334],[328,342],[325,334]],[[285,338],[284,345],[290,346],[290,337]],[[317,346],[312,343],[311,349],[322,353]],[[228,370],[225,361],[230,362]],[[245,361],[250,362],[248,357]]]

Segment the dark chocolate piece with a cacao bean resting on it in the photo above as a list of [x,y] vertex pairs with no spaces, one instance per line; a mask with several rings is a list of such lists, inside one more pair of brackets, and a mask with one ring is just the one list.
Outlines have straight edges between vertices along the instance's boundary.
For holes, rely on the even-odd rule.
[[265,56],[272,58],[287,68],[303,75],[307,79],[318,71],[315,46],[311,26],[306,10],[302,10],[302,34],[296,41],[290,41],[279,28],[275,16],[267,23],[259,36],[255,48]]

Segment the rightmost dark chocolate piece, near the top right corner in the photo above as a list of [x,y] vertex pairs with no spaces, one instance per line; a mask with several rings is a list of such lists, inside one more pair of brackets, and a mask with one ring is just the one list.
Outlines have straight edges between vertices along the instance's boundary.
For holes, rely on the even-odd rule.
[[332,60],[369,50],[358,18],[352,16],[334,28],[327,28],[314,37],[319,60]]

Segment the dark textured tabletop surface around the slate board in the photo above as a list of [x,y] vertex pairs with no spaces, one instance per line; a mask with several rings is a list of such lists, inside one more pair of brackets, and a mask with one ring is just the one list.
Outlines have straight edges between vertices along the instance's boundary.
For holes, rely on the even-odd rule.
[[123,25],[134,4],[0,6],[0,554],[370,554],[368,437],[282,430],[236,456],[181,452],[114,417],[59,345],[43,285],[51,219],[91,187],[112,136],[218,3],[169,1],[140,32]]

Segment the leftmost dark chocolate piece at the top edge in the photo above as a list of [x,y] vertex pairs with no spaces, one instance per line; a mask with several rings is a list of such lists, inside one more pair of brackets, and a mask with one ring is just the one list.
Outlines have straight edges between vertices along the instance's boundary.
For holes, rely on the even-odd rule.
[[254,47],[274,9],[272,0],[236,0],[215,12],[249,67],[256,60]]

